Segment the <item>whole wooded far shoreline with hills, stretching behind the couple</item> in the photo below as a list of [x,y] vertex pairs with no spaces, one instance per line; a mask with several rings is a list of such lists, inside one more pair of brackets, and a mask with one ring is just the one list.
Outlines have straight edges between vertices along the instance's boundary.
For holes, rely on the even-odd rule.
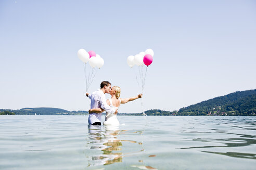
[[[145,114],[148,116],[256,116],[256,89],[215,97],[180,110],[151,109],[145,111]],[[0,115],[88,115],[88,111],[39,107],[19,110],[0,109]],[[118,115],[142,116],[143,114],[139,112],[118,113]]]

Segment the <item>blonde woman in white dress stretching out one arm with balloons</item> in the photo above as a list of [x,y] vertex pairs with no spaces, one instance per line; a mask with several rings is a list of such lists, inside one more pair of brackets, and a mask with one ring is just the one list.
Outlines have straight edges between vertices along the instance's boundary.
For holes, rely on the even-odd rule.
[[[107,100],[107,104],[110,107],[114,108],[119,108],[121,104],[134,101],[137,98],[142,98],[142,94],[139,94],[134,97],[130,98],[119,98],[121,95],[121,89],[118,86],[113,86],[112,89],[110,90],[109,94],[111,95],[111,98]],[[95,109],[89,109],[89,114],[91,112],[103,112],[104,109],[102,108],[95,108]],[[119,125],[119,121],[117,119],[117,114],[111,114],[111,113],[106,113],[105,117],[105,122],[103,123],[104,125]]]

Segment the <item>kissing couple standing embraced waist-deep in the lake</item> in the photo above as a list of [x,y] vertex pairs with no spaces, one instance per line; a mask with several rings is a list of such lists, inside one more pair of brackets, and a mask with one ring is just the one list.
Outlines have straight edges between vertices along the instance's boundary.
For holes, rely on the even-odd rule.
[[[109,93],[111,98],[106,101],[105,93]],[[142,98],[142,94],[130,98],[120,98],[121,89],[118,86],[111,88],[111,83],[103,81],[100,83],[100,89],[92,94],[86,93],[91,99],[91,109],[89,109],[88,124],[101,125],[101,115],[106,111],[104,125],[119,125],[117,119],[118,108],[121,104]]]

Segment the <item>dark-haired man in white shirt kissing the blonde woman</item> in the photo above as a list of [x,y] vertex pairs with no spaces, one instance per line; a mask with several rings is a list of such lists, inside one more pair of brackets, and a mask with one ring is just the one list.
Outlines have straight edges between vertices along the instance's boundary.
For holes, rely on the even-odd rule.
[[[111,83],[103,81],[100,83],[100,89],[93,92],[92,94],[86,93],[86,96],[91,99],[91,109],[103,108],[106,112],[117,114],[118,110],[110,107],[106,102],[105,93],[109,93],[111,89]],[[89,125],[101,125],[102,113],[92,112],[89,114],[88,123]]]

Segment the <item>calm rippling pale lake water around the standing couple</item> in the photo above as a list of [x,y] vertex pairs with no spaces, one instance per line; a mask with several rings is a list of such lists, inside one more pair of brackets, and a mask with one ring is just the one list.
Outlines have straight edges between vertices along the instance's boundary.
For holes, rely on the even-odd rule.
[[[256,117],[0,116],[0,169],[255,169]],[[103,117],[104,119],[104,117]]]

